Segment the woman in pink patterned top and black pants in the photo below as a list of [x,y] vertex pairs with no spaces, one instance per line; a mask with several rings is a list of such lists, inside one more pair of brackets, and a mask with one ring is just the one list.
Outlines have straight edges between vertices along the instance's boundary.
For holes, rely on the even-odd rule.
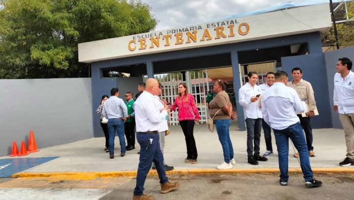
[[199,122],[200,116],[194,97],[188,93],[187,84],[180,83],[178,86],[179,95],[175,98],[171,111],[178,108],[178,121],[183,130],[187,146],[187,158],[185,162],[195,164],[197,162],[197,147],[193,136],[194,121]]

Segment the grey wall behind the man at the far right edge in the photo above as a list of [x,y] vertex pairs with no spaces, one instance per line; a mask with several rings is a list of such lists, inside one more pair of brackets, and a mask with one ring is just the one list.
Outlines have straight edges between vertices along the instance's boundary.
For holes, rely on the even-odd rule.
[[[333,89],[334,89],[334,82],[333,78],[336,74],[336,64],[338,58],[347,57],[351,61],[354,61],[354,47],[347,47],[343,49],[339,49],[336,51],[330,51],[325,53],[326,59],[326,69],[327,69],[327,77],[328,77],[328,89],[329,89],[329,96],[330,96],[330,103],[331,103],[331,117],[332,123],[334,128],[342,128],[342,124],[339,120],[338,113],[333,110]],[[351,71],[353,71],[351,69]]]

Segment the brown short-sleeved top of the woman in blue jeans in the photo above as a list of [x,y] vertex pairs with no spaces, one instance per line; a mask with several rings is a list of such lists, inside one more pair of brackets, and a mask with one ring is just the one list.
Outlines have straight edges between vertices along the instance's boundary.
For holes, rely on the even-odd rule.
[[[210,117],[214,117],[215,113],[218,112],[219,109],[228,105],[230,103],[230,98],[225,90],[220,91],[213,100],[209,103],[210,107]],[[218,114],[215,115],[216,119],[230,119],[230,117],[221,109]]]

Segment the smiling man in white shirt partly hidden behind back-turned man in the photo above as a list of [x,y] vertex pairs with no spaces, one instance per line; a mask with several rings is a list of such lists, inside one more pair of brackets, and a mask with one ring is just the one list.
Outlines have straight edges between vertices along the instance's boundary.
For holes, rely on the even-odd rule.
[[[269,88],[271,88],[271,86],[274,84],[274,79],[275,79],[274,72],[268,72],[267,82],[259,85],[259,89],[262,94],[265,91],[267,91]],[[264,152],[263,157],[268,158],[271,154],[273,154],[272,135],[271,135],[272,128],[267,123],[265,123],[264,119],[262,119],[262,128],[264,132],[265,146],[267,147],[267,151]]]

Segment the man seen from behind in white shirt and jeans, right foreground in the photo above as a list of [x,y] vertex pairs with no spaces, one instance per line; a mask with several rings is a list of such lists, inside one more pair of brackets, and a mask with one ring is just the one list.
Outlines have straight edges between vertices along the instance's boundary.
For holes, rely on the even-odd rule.
[[280,185],[286,186],[288,175],[289,138],[300,154],[301,170],[307,187],[319,187],[321,181],[313,178],[305,136],[297,112],[307,109],[298,93],[287,87],[288,75],[283,71],[275,73],[275,83],[264,92],[262,99],[263,119],[274,130],[278,147]]

